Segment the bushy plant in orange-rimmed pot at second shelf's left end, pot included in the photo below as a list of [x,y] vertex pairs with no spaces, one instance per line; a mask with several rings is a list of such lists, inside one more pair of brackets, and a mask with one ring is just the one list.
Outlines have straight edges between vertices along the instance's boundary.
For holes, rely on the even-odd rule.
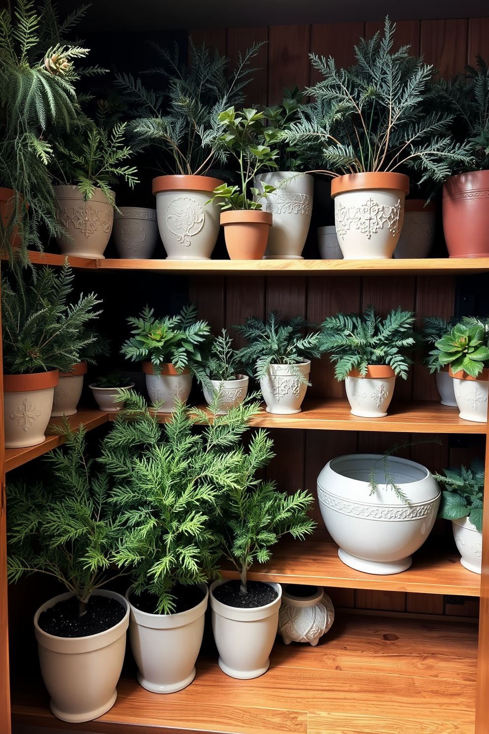
[[72,280],[67,262],[59,272],[1,273],[6,448],[43,443],[59,372],[69,372],[91,341],[83,327],[99,301],[90,294],[67,305]]

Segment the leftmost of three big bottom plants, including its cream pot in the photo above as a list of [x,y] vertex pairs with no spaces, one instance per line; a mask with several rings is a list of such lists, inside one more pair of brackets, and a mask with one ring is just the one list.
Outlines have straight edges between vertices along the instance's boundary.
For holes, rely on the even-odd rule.
[[[124,661],[129,608],[101,587],[121,574],[111,566],[121,528],[105,474],[85,456],[85,429],[61,426],[65,450],[46,454],[45,482],[9,482],[8,575],[54,576],[67,592],[34,616],[51,711],[65,722],[87,722],[109,711]],[[122,572],[124,573],[124,572]]]

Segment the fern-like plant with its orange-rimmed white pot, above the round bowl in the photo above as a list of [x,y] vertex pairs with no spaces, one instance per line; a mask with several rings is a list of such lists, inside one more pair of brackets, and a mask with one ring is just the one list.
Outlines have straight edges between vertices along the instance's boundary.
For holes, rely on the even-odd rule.
[[353,415],[387,415],[396,377],[407,379],[413,363],[407,352],[416,346],[414,319],[400,307],[381,319],[369,305],[363,314],[337,313],[321,324],[321,348],[336,364],[334,376],[345,380]]

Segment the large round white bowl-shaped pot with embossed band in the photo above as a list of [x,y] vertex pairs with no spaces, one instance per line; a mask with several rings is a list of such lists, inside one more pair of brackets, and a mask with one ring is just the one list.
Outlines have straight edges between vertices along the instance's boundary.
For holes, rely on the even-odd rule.
[[[411,553],[430,534],[440,490],[421,464],[389,457],[389,475],[408,499],[397,499],[386,485],[383,454],[350,454],[331,459],[317,477],[321,515],[339,545],[338,556],[364,573],[400,573],[411,566]],[[378,490],[371,494],[375,467]]]

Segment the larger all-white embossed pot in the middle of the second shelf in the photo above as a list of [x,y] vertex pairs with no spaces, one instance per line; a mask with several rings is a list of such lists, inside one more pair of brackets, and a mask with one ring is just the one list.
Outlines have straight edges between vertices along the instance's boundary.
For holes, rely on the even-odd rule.
[[[304,360],[298,365],[271,365],[267,376],[260,379],[267,413],[301,413],[310,370],[311,360]],[[305,382],[298,377],[298,371],[306,378]]]

